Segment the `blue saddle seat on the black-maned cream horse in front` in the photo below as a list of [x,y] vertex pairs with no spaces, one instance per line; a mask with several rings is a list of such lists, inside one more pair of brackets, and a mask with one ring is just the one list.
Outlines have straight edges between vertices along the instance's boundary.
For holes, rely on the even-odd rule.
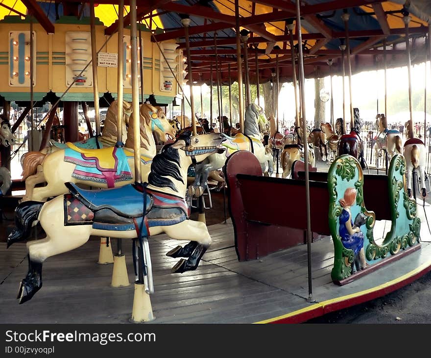
[[[100,190],[82,189],[72,182],[67,182],[65,185],[76,199],[91,210],[110,209],[126,218],[144,216],[144,194],[133,184]],[[145,213],[147,213],[153,206],[153,197],[148,193],[145,195]]]

